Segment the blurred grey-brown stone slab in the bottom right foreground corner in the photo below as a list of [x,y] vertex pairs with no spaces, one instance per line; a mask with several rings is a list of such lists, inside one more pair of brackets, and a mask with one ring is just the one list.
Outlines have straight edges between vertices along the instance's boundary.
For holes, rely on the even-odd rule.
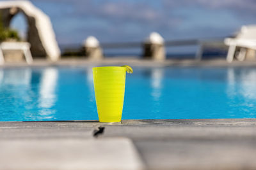
[[148,169],[256,169],[255,141],[139,140]]

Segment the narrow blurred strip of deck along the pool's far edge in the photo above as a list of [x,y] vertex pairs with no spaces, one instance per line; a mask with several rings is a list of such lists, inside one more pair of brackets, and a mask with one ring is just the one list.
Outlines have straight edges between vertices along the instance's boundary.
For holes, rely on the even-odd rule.
[[234,60],[232,63],[228,63],[225,59],[207,59],[207,60],[195,60],[195,59],[166,59],[163,61],[136,59],[134,57],[123,58],[108,58],[103,60],[88,60],[84,58],[63,58],[57,62],[50,62],[44,59],[35,59],[34,62],[28,65],[26,62],[6,62],[0,67],[38,67],[38,66],[142,66],[142,67],[166,67],[166,66],[201,66],[201,67],[230,67],[230,66],[256,66],[256,60],[246,60],[239,62]]

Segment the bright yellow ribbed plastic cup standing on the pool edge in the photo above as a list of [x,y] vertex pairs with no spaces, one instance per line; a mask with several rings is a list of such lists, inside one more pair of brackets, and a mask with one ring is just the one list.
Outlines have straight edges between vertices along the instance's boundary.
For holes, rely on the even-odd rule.
[[93,84],[100,122],[120,122],[126,67],[93,67]]

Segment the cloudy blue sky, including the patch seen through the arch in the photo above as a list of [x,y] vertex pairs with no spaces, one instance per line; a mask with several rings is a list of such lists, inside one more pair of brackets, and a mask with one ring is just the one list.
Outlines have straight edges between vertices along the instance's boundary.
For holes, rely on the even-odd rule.
[[[58,43],[141,41],[152,31],[164,39],[229,36],[256,24],[254,0],[33,0],[51,18]],[[16,17],[13,27],[25,30]]]

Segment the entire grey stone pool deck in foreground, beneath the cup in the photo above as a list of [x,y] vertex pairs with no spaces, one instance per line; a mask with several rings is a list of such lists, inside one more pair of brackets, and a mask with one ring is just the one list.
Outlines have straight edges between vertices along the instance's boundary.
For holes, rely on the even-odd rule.
[[256,169],[256,118],[0,122],[0,169]]

